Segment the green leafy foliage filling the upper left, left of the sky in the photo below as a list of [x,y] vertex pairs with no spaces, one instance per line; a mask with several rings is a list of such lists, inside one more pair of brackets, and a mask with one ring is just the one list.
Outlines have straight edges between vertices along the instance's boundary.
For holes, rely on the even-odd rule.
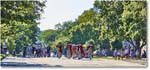
[[1,1],[1,42],[8,44],[9,51],[37,41],[36,21],[44,6],[39,1]]

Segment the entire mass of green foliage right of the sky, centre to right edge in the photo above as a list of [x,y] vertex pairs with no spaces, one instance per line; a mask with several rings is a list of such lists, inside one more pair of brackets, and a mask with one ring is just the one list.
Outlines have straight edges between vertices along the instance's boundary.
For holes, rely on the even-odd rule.
[[54,33],[45,31],[43,37],[52,42],[53,47],[58,42],[67,44],[69,41],[87,46],[91,40],[95,45],[101,43],[102,48],[112,50],[121,49],[124,40],[132,44],[133,40],[142,42],[143,46],[146,44],[146,1],[96,0],[94,7],[85,10],[75,21],[59,23],[55,28]]

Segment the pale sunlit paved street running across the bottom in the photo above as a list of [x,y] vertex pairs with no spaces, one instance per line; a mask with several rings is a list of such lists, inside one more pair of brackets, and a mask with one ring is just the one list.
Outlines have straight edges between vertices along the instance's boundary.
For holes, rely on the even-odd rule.
[[43,67],[146,67],[146,65],[108,59],[67,59],[7,57],[2,66],[43,66]]

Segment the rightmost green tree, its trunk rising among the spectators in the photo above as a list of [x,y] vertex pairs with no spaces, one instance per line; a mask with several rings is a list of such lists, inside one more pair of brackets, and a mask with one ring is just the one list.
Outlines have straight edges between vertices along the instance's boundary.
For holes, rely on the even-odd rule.
[[[124,2],[122,22],[126,30],[127,41],[136,47],[140,53],[146,45],[146,1]],[[133,43],[136,42],[136,45]]]

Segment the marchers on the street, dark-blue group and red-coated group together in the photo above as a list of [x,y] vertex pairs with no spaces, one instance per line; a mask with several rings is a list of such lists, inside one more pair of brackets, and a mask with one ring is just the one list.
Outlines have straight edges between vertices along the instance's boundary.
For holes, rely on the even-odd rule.
[[90,58],[93,57],[94,45],[90,43],[87,48],[84,48],[82,44],[68,43],[65,47],[59,42],[56,45],[56,49],[52,49],[51,46],[45,48],[37,46],[27,46],[23,48],[23,57],[58,57],[59,59],[64,55],[66,58]]

